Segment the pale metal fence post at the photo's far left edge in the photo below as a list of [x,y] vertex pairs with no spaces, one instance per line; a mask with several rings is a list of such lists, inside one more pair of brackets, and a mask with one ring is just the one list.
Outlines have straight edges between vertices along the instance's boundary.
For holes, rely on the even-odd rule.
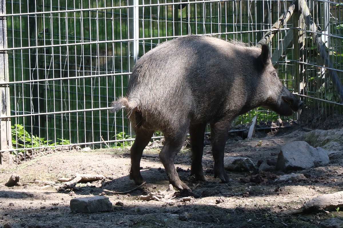
[[2,153],[5,151],[9,153],[12,148],[5,4],[5,0],[0,2],[0,164],[2,164]]

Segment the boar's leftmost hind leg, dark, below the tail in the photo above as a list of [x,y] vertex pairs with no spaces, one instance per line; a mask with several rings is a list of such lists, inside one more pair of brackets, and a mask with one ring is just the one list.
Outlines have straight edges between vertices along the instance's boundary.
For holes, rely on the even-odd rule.
[[134,180],[136,185],[140,185],[143,183],[143,177],[140,172],[140,163],[141,157],[144,148],[149,143],[154,131],[144,130],[143,128],[139,128],[135,130],[136,132],[136,139],[130,149],[130,157],[131,157],[131,170],[130,170],[130,179]]

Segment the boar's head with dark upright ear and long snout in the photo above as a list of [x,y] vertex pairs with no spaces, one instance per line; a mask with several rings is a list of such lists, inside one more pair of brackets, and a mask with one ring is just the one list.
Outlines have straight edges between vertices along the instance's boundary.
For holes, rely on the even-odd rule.
[[261,55],[257,58],[256,67],[261,72],[260,93],[264,97],[262,107],[269,108],[280,115],[290,116],[303,104],[280,81],[276,69],[269,57],[269,48],[262,45]]

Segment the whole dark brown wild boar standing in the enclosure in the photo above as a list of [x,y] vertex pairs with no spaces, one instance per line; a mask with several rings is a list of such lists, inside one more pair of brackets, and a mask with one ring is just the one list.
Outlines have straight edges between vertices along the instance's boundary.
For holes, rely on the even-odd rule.
[[226,183],[230,178],[223,160],[230,122],[259,106],[292,115],[302,103],[279,80],[267,45],[256,48],[191,35],[164,42],[143,55],[133,68],[126,96],[113,102],[112,110],[125,106],[136,133],[130,151],[130,179],[137,185],[143,183],[142,152],[160,130],[165,143],[159,158],[169,182],[190,191],[174,165],[187,133],[191,175],[204,181],[203,141],[206,124],[210,124],[214,176]]

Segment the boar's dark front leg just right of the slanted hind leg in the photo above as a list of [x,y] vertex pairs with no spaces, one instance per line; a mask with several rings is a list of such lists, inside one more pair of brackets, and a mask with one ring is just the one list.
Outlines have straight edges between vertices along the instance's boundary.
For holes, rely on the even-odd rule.
[[204,134],[206,123],[193,124],[189,127],[189,135],[191,139],[192,165],[191,176],[195,175],[196,180],[206,181],[202,170],[202,152],[204,150]]

